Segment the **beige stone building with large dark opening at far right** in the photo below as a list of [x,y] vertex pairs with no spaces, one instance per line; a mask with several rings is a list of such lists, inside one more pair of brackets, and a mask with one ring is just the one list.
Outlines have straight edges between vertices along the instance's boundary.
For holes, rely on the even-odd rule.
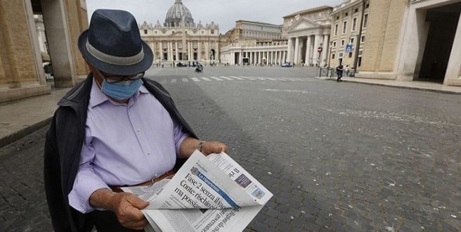
[[358,77],[461,86],[461,1],[370,1]]

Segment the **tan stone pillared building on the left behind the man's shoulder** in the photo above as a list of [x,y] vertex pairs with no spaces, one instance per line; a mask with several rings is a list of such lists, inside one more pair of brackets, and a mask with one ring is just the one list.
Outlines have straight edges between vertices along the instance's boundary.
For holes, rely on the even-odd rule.
[[0,102],[48,94],[34,15],[43,15],[55,86],[86,77],[77,39],[88,27],[84,0],[0,0]]

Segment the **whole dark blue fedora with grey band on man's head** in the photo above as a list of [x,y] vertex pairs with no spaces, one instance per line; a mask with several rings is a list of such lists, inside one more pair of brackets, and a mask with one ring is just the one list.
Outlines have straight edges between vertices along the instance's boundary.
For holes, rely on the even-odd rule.
[[79,50],[89,64],[116,75],[144,72],[153,60],[134,16],[120,10],[94,11],[89,29],[80,34]]

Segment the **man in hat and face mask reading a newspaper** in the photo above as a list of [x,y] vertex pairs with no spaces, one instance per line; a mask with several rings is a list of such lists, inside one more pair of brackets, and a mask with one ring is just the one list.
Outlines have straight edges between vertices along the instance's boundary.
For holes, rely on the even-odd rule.
[[[174,172],[199,141],[168,92],[144,79],[152,51],[126,11],[96,10],[79,50],[91,73],[58,103],[46,135],[44,181],[55,231],[142,230],[148,206],[119,186],[149,185]],[[183,161],[182,161],[183,162]]]

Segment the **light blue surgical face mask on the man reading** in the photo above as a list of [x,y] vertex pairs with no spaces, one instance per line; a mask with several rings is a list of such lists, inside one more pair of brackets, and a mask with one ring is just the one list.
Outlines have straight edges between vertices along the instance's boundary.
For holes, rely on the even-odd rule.
[[116,83],[108,83],[104,79],[101,91],[111,98],[125,100],[136,94],[136,91],[138,91],[141,85],[143,85],[143,81],[141,79]]

